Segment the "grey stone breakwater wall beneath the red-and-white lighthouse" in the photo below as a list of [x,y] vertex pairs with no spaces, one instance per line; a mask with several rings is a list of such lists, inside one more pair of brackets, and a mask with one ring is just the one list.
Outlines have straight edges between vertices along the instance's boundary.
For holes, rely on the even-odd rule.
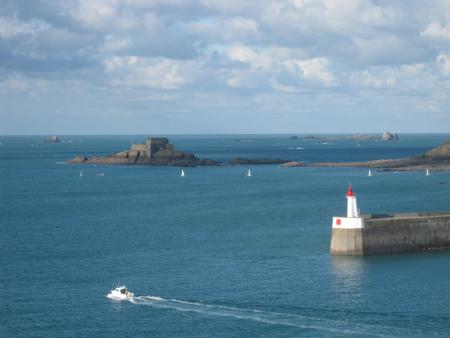
[[334,255],[374,255],[450,248],[450,212],[365,215],[362,229],[333,229]]

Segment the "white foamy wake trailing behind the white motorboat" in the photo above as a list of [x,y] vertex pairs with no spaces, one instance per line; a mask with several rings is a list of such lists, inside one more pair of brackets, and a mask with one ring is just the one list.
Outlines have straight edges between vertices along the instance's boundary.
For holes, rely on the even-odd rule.
[[422,336],[420,331],[388,327],[382,325],[357,324],[349,321],[330,320],[319,317],[302,316],[291,313],[242,309],[231,306],[211,305],[157,296],[139,296],[130,300],[133,304],[157,308],[174,309],[182,312],[195,312],[207,316],[230,317],[242,320],[292,326],[334,332],[341,335],[365,335],[373,337],[396,337],[398,335]]

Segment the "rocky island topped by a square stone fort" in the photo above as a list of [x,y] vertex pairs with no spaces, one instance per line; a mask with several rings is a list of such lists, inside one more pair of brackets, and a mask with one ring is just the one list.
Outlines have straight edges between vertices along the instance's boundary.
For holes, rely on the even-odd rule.
[[77,156],[69,163],[86,164],[128,164],[128,165],[168,165],[178,167],[195,167],[202,165],[219,165],[219,162],[200,159],[192,153],[178,151],[166,137],[148,137],[143,144],[132,144],[131,149],[108,156]]

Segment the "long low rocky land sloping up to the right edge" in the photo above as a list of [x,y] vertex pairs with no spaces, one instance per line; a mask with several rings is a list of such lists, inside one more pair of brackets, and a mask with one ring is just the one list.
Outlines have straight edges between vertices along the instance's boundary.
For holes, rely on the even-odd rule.
[[311,163],[310,167],[365,167],[378,171],[450,171],[450,141],[427,151],[425,154],[400,158],[375,160],[368,162],[328,162]]

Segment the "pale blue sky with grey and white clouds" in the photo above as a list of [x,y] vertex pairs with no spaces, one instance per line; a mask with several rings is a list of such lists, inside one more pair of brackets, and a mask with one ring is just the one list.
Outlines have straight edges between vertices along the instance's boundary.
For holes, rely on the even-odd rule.
[[449,132],[450,0],[0,0],[0,134]]

